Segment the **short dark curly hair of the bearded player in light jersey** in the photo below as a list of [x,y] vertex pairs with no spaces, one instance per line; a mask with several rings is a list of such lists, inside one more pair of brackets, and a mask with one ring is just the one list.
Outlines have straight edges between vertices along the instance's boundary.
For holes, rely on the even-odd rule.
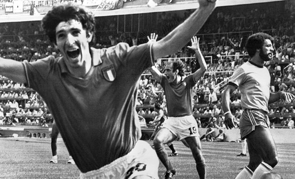
[[273,41],[272,36],[265,33],[256,33],[248,37],[246,42],[246,49],[250,57],[253,57],[255,55],[256,49],[262,49],[262,46],[266,39]]

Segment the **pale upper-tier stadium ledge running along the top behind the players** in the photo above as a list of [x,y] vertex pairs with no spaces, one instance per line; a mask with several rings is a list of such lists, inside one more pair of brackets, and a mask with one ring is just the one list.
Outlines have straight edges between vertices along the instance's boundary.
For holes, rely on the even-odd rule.
[[[103,0],[114,1],[114,0]],[[116,0],[115,0],[116,1]],[[119,0],[117,0],[119,1]],[[122,1],[122,0],[121,0]],[[126,0],[125,0],[126,1]],[[256,3],[270,3],[286,0],[219,0],[217,2],[217,7],[222,6],[236,6],[236,5],[246,5],[246,4],[256,4]],[[187,9],[197,9],[199,8],[198,1],[194,0],[162,0],[162,2],[156,7],[148,7],[149,0],[128,0],[123,3],[122,8],[114,10],[102,10],[96,6],[89,6],[96,17],[100,16],[116,16],[125,14],[142,14],[142,13],[153,13],[153,12],[164,12],[164,11],[178,11]],[[27,14],[5,14],[0,15],[0,23],[2,22],[21,22],[21,21],[39,21],[43,18],[44,14],[48,12],[52,7],[37,8],[40,13],[37,15]]]

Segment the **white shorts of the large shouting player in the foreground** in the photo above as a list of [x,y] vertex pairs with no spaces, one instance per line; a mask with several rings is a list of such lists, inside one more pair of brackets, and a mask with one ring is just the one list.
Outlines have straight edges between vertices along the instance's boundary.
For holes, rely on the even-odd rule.
[[148,142],[138,140],[127,155],[97,170],[80,173],[85,179],[132,179],[138,175],[147,175],[158,179],[159,159]]

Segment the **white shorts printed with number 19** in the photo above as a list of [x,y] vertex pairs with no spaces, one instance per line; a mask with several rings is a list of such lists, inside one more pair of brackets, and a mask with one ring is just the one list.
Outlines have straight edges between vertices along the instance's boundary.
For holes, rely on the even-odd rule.
[[168,117],[162,128],[167,128],[179,140],[187,137],[200,137],[198,124],[193,115],[183,117]]

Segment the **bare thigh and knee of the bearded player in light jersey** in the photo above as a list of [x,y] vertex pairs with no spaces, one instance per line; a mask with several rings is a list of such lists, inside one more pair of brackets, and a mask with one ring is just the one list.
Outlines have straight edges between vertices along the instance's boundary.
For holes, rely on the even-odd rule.
[[[256,126],[255,130],[247,136],[248,150],[251,158],[259,155],[263,161],[268,162],[277,159],[275,141],[268,128]],[[249,149],[250,147],[250,149]],[[252,157],[251,157],[252,153]],[[257,159],[252,159],[257,160]]]

